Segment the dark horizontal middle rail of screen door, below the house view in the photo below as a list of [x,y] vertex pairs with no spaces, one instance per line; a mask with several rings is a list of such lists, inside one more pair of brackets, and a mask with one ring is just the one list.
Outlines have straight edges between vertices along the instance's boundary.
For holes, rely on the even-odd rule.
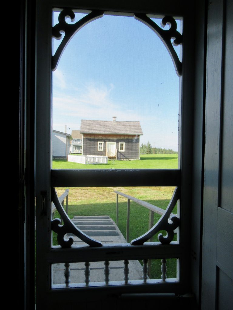
[[52,169],[52,187],[179,186],[179,169]]

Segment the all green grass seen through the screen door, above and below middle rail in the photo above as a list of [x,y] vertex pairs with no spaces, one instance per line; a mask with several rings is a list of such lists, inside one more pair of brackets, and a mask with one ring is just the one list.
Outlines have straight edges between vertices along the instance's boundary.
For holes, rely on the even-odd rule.
[[[177,169],[177,154],[141,155],[140,160],[108,161],[107,165],[82,165],[66,160],[53,160],[53,169]],[[57,188],[61,195],[65,188]],[[147,201],[162,209],[166,209],[174,187],[86,187],[70,188],[68,215],[72,219],[75,215],[109,215],[116,222],[116,193],[128,194]],[[176,214],[177,210],[173,210]],[[126,238],[127,199],[119,196],[118,227]],[[59,217],[57,211],[54,218]],[[160,215],[154,215],[154,224]],[[141,236],[148,231],[149,210],[130,203],[130,240]],[[158,235],[158,234],[157,234]],[[153,241],[158,241],[157,235]],[[57,245],[56,234],[53,234],[53,244]],[[142,263],[140,261],[140,263]],[[152,260],[151,278],[160,278],[161,260]],[[176,259],[167,259],[167,277],[176,277]]]

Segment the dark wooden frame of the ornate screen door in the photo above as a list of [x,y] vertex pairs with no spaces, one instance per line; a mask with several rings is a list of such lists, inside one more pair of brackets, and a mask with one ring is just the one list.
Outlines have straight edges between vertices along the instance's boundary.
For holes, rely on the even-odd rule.
[[[69,2],[69,3],[68,3]],[[142,9],[141,3],[135,2],[134,7],[132,8],[131,4],[128,4],[124,1],[117,1],[112,2],[101,2],[96,4],[95,1],[80,1],[78,2],[79,8],[96,8],[96,9],[106,9],[109,11],[125,11],[132,14],[134,12],[144,12],[154,14],[163,13],[164,15],[185,15],[185,27],[184,27],[184,49],[183,49],[183,78],[182,78],[182,89],[180,93],[182,94],[182,117],[181,117],[181,107],[180,107],[180,132],[182,135],[182,145],[180,146],[180,158],[179,158],[179,167],[175,171],[164,170],[162,171],[151,171],[151,170],[141,170],[141,171],[120,171],[117,174],[113,175],[111,172],[110,178],[107,178],[107,186],[114,186],[118,184],[117,182],[120,181],[121,185],[127,184],[128,186],[134,186],[137,182],[137,186],[172,186],[178,185],[181,186],[182,193],[181,199],[184,206],[191,205],[191,178],[190,175],[192,173],[192,136],[193,136],[193,127],[192,127],[192,112],[193,112],[193,87],[192,81],[194,81],[194,64],[190,61],[193,59],[194,51],[193,51],[193,42],[191,40],[192,33],[194,31],[192,26],[192,16],[190,17],[190,11],[184,12],[183,2],[179,2],[179,4],[175,3],[174,1],[169,1],[166,4],[159,2],[156,3],[156,6],[148,2],[145,5],[145,8]],[[54,300],[53,298],[57,298],[57,306],[60,306],[60,297],[64,300],[68,298],[69,301],[73,302],[78,298],[86,299],[89,298],[88,296],[90,291],[92,292],[91,296],[95,296],[96,298],[102,298],[106,294],[110,294],[114,288],[111,286],[103,287],[103,288],[88,288],[85,290],[85,293],[82,294],[83,290],[66,290],[61,289],[59,291],[51,291],[51,274],[50,267],[51,262],[58,262],[59,259],[67,259],[69,261],[77,259],[77,253],[74,251],[67,249],[59,249],[61,253],[61,257],[58,258],[56,253],[56,249],[51,249],[51,221],[50,221],[50,208],[51,208],[51,195],[50,195],[50,188],[51,184],[55,186],[54,180],[56,178],[51,178],[51,173],[55,176],[56,171],[51,171],[51,146],[50,146],[50,139],[51,139],[51,46],[48,42],[51,42],[52,38],[52,31],[51,31],[51,12],[52,12],[52,4],[56,7],[70,6],[70,7],[77,7],[77,1],[48,1],[48,0],[41,0],[37,2],[37,66],[36,72],[38,78],[36,80],[36,148],[37,148],[37,158],[36,158],[36,221],[37,221],[37,228],[39,230],[42,229],[42,234],[37,234],[37,261],[40,263],[37,264],[37,282],[36,287],[39,288],[39,293],[37,295],[38,306],[49,307],[53,305]],[[41,21],[43,21],[41,23]],[[191,82],[190,82],[191,81]],[[191,86],[190,86],[191,85]],[[180,133],[179,133],[180,134]],[[46,139],[45,139],[46,137]],[[78,182],[81,182],[81,186],[106,186],[106,175],[108,172],[106,171],[78,171],[78,178],[75,171],[75,178],[70,178],[71,171],[69,173],[69,182],[72,183],[71,186],[77,186]],[[62,173],[66,173],[66,171],[62,171]],[[93,175],[93,178],[89,177],[89,173]],[[175,178],[172,179],[172,176],[175,175]],[[98,178],[98,182],[97,179]],[[61,180],[61,179],[60,179]],[[66,179],[67,180],[67,179]],[[175,180],[175,181],[174,181]],[[181,181],[180,181],[181,180]],[[59,181],[59,178],[58,178]],[[87,181],[87,182],[86,182]],[[174,181],[174,183],[173,183]],[[86,182],[86,183],[85,183]],[[76,184],[76,185],[75,185]],[[88,185],[86,185],[88,184]],[[68,184],[67,184],[68,185]],[[127,186],[125,185],[125,186]],[[61,186],[58,185],[58,186]],[[68,185],[69,186],[69,185]],[[124,186],[124,185],[123,185]],[[184,212],[185,211],[185,212]],[[183,208],[181,210],[181,218],[182,218],[182,230],[181,230],[181,240],[182,245],[175,245],[177,248],[180,248],[180,261],[185,262],[184,268],[180,268],[180,278],[179,283],[171,283],[168,285],[157,285],[156,283],[150,286],[149,288],[142,284],[139,286],[124,286],[118,287],[116,291],[118,294],[123,292],[182,292],[184,290],[190,290],[190,277],[189,277],[189,267],[190,267],[190,208]],[[122,250],[121,247],[121,255],[131,255],[129,254],[129,248],[127,247]],[[152,247],[151,247],[152,248]],[[182,248],[182,250],[181,250]],[[41,250],[43,249],[43,250]],[[163,253],[166,255],[172,255],[167,253],[166,247],[160,248]],[[105,250],[105,249],[104,249]],[[119,249],[120,250],[120,249]],[[142,249],[140,247],[134,249],[134,254],[136,257],[142,255],[145,252],[146,247],[144,246]],[[161,255],[161,253],[155,254],[154,252],[149,254],[152,249],[147,250],[148,256],[150,255]],[[110,248],[106,249],[106,253],[109,253]],[[183,252],[182,252],[183,251]],[[181,253],[182,252],[182,253]],[[93,252],[92,252],[93,253]],[[118,253],[118,252],[117,252]],[[181,254],[180,254],[181,253]],[[145,254],[145,253],[144,253]],[[117,254],[116,254],[117,255]],[[76,258],[75,258],[76,257]],[[130,256],[130,257],[133,257]],[[94,258],[93,258],[94,259]],[[98,257],[97,257],[98,259]],[[100,259],[100,258],[99,258]],[[107,293],[108,292],[108,293]],[[98,296],[98,297],[97,297]],[[102,297],[101,297],[102,296]],[[60,299],[60,300],[59,300]],[[68,299],[66,299],[68,300]]]

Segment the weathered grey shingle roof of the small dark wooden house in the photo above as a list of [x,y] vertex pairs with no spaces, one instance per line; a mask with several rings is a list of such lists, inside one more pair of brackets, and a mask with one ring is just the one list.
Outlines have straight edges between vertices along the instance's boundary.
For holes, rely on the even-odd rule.
[[81,120],[80,133],[143,135],[140,122]]

